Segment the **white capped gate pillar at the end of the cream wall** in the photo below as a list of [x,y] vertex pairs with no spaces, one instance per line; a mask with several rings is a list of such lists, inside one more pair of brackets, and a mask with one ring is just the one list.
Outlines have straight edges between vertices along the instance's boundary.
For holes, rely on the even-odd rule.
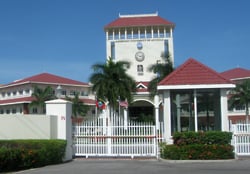
[[57,116],[57,139],[67,140],[63,161],[72,160],[72,103],[62,99],[47,101],[46,115]]

